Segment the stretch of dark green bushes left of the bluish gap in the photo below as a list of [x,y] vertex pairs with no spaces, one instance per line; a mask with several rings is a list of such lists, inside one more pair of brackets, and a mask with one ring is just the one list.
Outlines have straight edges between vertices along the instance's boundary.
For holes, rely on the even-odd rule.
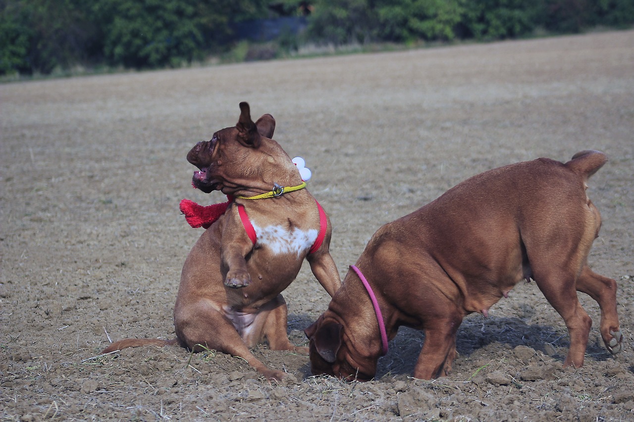
[[223,48],[230,16],[262,13],[265,0],[0,0],[0,74],[179,66]]

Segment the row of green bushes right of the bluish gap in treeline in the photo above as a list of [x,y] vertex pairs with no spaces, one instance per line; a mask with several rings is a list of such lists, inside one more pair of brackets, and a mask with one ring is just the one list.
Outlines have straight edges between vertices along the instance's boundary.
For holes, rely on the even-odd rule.
[[634,23],[631,0],[316,0],[314,10],[308,38],[332,44],[505,39]]

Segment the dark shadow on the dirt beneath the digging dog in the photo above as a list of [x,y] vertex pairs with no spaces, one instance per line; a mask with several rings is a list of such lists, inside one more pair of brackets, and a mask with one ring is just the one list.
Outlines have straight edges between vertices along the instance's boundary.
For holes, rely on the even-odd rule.
[[[289,315],[288,319],[288,329],[291,333],[303,331],[314,322],[307,314]],[[598,331],[590,331],[586,359],[590,357],[595,361],[605,361],[612,355],[602,345],[597,344],[597,335]],[[304,341],[307,344],[305,336]],[[424,341],[425,335],[422,331],[408,327],[399,328],[398,335],[389,342],[389,352],[378,360],[375,379],[380,380],[385,376],[411,376]],[[454,361],[454,367],[474,354],[481,354],[482,358],[486,359],[501,353],[507,361],[511,361],[514,357],[513,349],[517,346],[533,348],[563,363],[568,352],[569,336],[565,326],[553,328],[529,324],[520,317],[484,317],[474,314],[466,317],[458,329],[456,350],[459,356]],[[309,363],[302,366],[300,371],[304,378],[312,375]]]

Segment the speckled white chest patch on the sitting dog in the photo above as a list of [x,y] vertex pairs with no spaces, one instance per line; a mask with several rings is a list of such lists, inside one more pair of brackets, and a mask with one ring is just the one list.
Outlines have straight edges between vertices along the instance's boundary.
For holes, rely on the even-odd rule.
[[253,224],[253,228],[257,234],[257,245],[266,246],[276,255],[284,253],[299,255],[313,246],[318,234],[317,230],[302,231],[296,228],[288,230],[282,226],[259,227]]

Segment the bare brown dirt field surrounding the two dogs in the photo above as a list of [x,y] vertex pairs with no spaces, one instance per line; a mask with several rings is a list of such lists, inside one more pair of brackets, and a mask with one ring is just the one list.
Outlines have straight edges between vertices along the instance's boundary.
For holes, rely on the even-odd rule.
[[[589,261],[619,283],[625,351],[562,369],[568,336],[534,283],[467,317],[453,373],[411,378],[424,337],[401,329],[377,379],[313,377],[307,357],[245,362],[178,347],[100,357],[108,338],[171,338],[184,259],[202,229],[178,203],[186,152],[234,125],[240,101],[313,170],[343,275],[372,233],[463,179],[597,149],[604,225]],[[3,421],[634,420],[634,31],[398,53],[77,77],[0,86],[0,418]],[[477,222],[474,222],[477,224]],[[285,292],[289,333],[326,309],[304,265]]]

